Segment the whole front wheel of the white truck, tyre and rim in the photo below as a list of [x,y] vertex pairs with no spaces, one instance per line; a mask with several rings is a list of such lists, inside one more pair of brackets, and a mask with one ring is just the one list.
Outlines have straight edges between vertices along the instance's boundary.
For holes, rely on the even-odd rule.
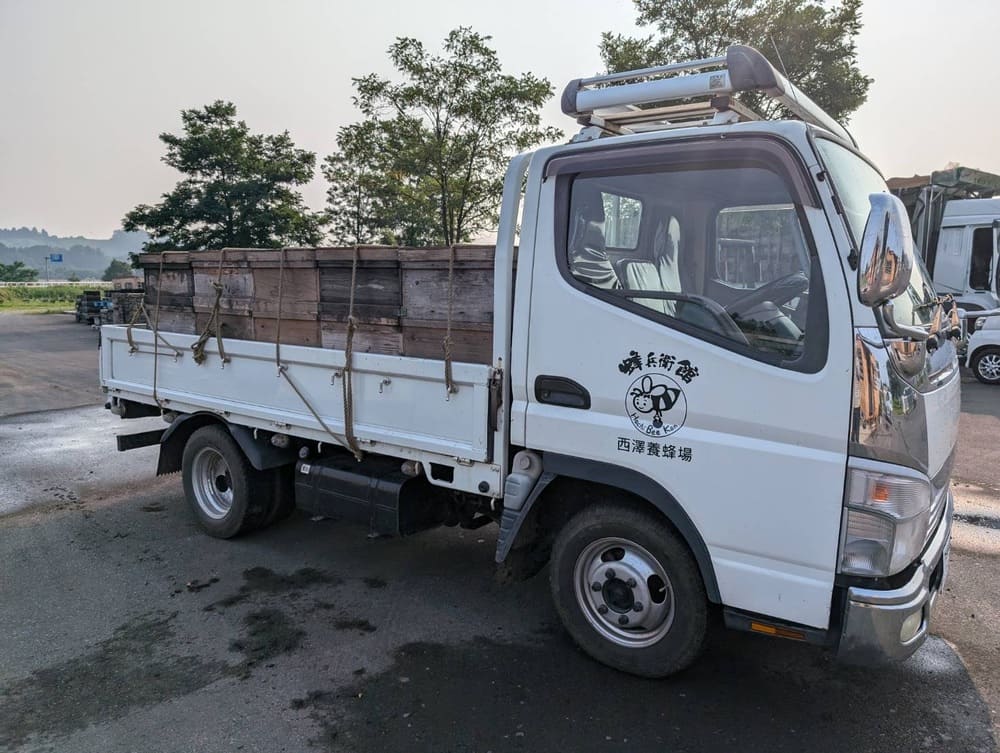
[[657,516],[610,505],[579,513],[553,545],[550,585],[566,630],[603,664],[666,677],[701,652],[708,624],[701,575]]

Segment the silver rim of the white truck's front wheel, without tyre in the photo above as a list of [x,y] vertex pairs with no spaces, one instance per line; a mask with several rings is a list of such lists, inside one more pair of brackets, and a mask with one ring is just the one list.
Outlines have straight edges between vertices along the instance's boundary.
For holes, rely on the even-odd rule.
[[647,549],[622,538],[587,545],[573,568],[576,601],[602,637],[643,648],[674,622],[674,590],[666,570]]

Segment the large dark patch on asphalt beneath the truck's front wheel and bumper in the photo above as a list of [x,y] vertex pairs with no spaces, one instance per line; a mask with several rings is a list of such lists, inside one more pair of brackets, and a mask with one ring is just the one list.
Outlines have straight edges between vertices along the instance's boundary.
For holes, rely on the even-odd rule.
[[754,636],[714,643],[667,680],[608,669],[565,635],[414,643],[388,670],[292,707],[308,710],[317,748],[351,753],[996,750],[988,709],[943,641],[920,661],[877,669]]

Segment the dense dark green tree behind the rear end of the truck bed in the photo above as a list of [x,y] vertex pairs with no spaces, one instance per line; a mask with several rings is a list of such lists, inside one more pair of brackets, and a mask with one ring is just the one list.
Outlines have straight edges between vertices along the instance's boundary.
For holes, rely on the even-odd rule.
[[254,134],[221,100],[181,112],[183,135],[160,134],[163,161],[185,177],[163,201],[140,204],[123,220],[145,230],[146,251],[316,245],[326,218],[294,190],[312,179],[316,155],[288,132]]

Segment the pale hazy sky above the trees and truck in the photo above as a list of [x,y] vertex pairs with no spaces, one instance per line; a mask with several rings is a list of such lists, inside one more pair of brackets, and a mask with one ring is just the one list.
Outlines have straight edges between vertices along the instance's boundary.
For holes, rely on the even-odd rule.
[[[389,74],[396,36],[433,48],[472,26],[509,72],[558,93],[600,70],[602,31],[634,18],[631,0],[0,0],[0,227],[109,236],[177,180],[157,135],[215,99],[322,158],[357,119],[351,77]],[[867,0],[863,21],[861,148],[887,176],[951,161],[1000,173],[1000,1]],[[555,99],[545,116],[575,129]],[[307,203],[324,192],[314,180]]]

